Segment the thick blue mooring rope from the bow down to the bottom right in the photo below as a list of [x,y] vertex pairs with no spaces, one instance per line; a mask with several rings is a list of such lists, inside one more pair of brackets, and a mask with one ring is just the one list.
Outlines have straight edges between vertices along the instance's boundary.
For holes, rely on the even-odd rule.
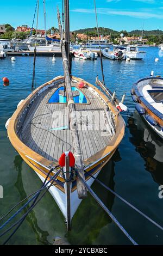
[[120,228],[122,230],[122,232],[124,233],[124,235],[126,235],[128,237],[128,239],[133,243],[133,245],[138,245],[134,239],[128,234],[128,232],[122,227],[121,223],[117,221],[117,219],[114,217],[114,215],[112,215],[111,211],[109,211],[108,208],[106,208],[106,206],[104,205],[104,203],[102,202],[101,199],[99,199],[99,197],[97,196],[97,194],[95,194],[95,192],[92,190],[92,188],[87,185],[87,183],[83,180],[83,178],[78,174],[79,179],[83,182],[83,184],[86,186],[87,190],[90,192],[90,194],[92,195],[92,197],[97,201],[97,203],[104,209],[104,211],[106,212],[106,214],[108,214],[110,216],[110,218],[112,219],[112,221],[115,222],[115,224],[118,226],[118,228]]

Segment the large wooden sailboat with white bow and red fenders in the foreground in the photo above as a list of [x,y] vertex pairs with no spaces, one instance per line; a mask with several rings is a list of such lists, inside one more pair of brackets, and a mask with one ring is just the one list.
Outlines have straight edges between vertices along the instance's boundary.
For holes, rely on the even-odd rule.
[[97,177],[123,139],[125,107],[98,78],[95,86],[71,76],[68,10],[66,0],[65,38],[58,10],[64,76],[42,84],[21,101],[9,120],[8,136],[42,182],[59,172],[49,192],[70,230],[72,217],[87,197],[85,184],[94,181],[90,175]]

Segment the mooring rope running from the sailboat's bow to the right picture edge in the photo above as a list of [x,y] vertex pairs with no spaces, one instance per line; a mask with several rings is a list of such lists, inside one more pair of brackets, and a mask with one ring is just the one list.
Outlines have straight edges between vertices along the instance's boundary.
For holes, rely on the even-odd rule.
[[156,227],[158,227],[159,229],[163,230],[163,227],[161,227],[160,224],[156,223],[155,221],[152,220],[152,218],[148,217],[146,214],[144,214],[142,211],[140,211],[139,209],[137,209],[133,204],[129,203],[126,199],[124,199],[123,197],[121,197],[119,194],[117,194],[115,191],[111,190],[110,187],[106,186],[102,181],[98,180],[97,178],[95,178],[94,176],[92,176],[91,174],[85,172],[87,175],[89,175],[91,178],[93,178],[95,181],[97,181],[99,184],[101,184],[103,187],[106,188],[106,190],[110,191],[112,194],[114,194],[116,197],[118,197],[119,199],[121,199],[124,203],[126,203],[127,205],[129,205],[131,208],[133,208],[135,211],[137,211],[140,215],[142,215],[143,217],[145,217],[149,222],[151,222],[152,224],[154,224]]

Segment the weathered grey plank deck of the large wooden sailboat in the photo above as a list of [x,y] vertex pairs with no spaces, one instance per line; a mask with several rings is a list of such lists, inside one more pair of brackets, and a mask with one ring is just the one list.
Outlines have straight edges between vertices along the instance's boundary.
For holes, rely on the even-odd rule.
[[[73,152],[66,104],[48,103],[55,90],[61,86],[64,84],[49,88],[37,97],[19,132],[24,144],[50,161],[58,161],[63,151]],[[72,83],[72,86],[76,86],[76,83]],[[111,136],[99,126],[106,122],[105,103],[89,88],[82,89],[82,92],[88,103],[76,104],[76,109],[78,125],[82,127],[79,129],[82,157],[86,160],[105,148],[110,143]]]

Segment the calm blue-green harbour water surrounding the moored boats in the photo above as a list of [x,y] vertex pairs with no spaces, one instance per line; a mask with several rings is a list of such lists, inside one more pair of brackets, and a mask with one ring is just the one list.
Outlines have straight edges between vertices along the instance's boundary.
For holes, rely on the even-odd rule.
[[[99,179],[163,225],[163,199],[158,197],[159,185],[163,184],[163,142],[135,112],[130,96],[133,82],[150,75],[151,70],[156,74],[163,73],[163,58],[160,58],[158,63],[154,62],[159,49],[147,48],[146,51],[147,57],[143,61],[128,63],[103,60],[106,84],[111,90],[116,89],[119,97],[123,93],[127,94],[125,103],[129,112],[123,115],[126,121],[126,135],[113,159],[99,175]],[[37,58],[37,86],[63,74],[62,59],[57,58],[56,63],[51,60],[51,57]],[[0,61],[1,77],[7,76],[10,79],[9,88],[4,88],[2,82],[0,86],[0,185],[4,187],[4,199],[0,200],[0,215],[42,185],[33,170],[12,148],[4,127],[17,103],[31,91],[32,70],[32,57],[16,57],[15,63],[11,63],[10,58]],[[95,84],[97,74],[101,76],[99,59],[95,62],[73,59],[74,76]],[[163,234],[158,228],[100,185],[93,184],[92,187],[137,243],[162,244]],[[66,237],[72,245],[130,245],[126,236],[91,196],[80,205],[72,221],[72,231],[67,233],[64,217],[49,193],[28,215],[9,244],[47,245],[52,243],[55,236]],[[5,238],[1,239],[0,243]]]

